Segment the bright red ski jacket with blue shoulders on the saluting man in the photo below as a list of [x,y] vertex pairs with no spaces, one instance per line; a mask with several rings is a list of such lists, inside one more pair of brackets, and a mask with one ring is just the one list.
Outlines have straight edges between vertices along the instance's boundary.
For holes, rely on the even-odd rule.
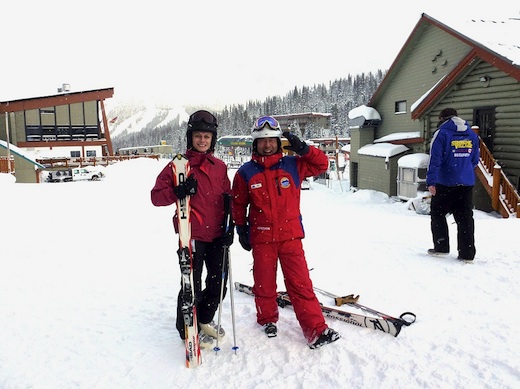
[[327,156],[316,147],[302,157],[253,155],[233,179],[235,224],[249,224],[251,244],[303,238],[301,182],[325,172],[328,166]]

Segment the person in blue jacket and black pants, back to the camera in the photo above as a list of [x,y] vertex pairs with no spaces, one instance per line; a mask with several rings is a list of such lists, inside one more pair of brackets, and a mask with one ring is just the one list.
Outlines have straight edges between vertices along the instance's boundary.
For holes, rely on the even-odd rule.
[[451,213],[457,223],[457,258],[473,260],[476,252],[473,186],[480,158],[479,138],[453,108],[443,109],[439,119],[426,174],[426,184],[432,195],[433,249],[429,249],[428,254],[447,255],[450,252],[446,216]]

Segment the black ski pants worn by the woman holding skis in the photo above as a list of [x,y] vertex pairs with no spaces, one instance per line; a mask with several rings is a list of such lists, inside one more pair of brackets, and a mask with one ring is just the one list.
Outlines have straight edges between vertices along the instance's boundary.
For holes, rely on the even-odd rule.
[[[209,323],[213,320],[220,302],[220,287],[222,285],[222,262],[224,259],[224,247],[222,239],[213,242],[195,240],[193,252],[193,285],[195,290],[195,307],[198,322]],[[202,289],[202,273],[206,265],[206,279]],[[224,294],[227,292],[227,263],[224,269]],[[182,282],[182,281],[181,281]],[[182,284],[177,297],[177,330],[182,339],[184,336],[184,317],[182,315]]]

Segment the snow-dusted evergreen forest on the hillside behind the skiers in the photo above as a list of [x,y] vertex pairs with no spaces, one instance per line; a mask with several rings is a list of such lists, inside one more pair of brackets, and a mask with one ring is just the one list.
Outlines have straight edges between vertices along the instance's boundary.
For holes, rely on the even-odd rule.
[[[309,137],[348,136],[351,109],[367,104],[385,73],[361,73],[356,76],[331,81],[329,85],[294,87],[285,96],[268,97],[264,101],[248,101],[224,107],[215,112],[219,121],[219,137],[224,135],[248,135],[256,118],[263,115],[319,112],[330,113],[330,129],[327,134],[322,129],[310,129]],[[204,107],[192,107],[190,111]],[[177,118],[166,125],[157,126],[161,120],[153,121],[139,132],[123,133],[112,139],[114,149],[139,145],[156,145],[161,141],[172,144],[175,150],[185,148],[186,123]]]

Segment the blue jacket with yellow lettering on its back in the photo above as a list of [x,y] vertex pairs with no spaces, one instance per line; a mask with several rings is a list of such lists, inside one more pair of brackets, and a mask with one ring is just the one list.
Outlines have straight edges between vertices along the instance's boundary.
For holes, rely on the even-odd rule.
[[479,158],[478,136],[467,122],[454,116],[433,134],[426,184],[472,186]]

